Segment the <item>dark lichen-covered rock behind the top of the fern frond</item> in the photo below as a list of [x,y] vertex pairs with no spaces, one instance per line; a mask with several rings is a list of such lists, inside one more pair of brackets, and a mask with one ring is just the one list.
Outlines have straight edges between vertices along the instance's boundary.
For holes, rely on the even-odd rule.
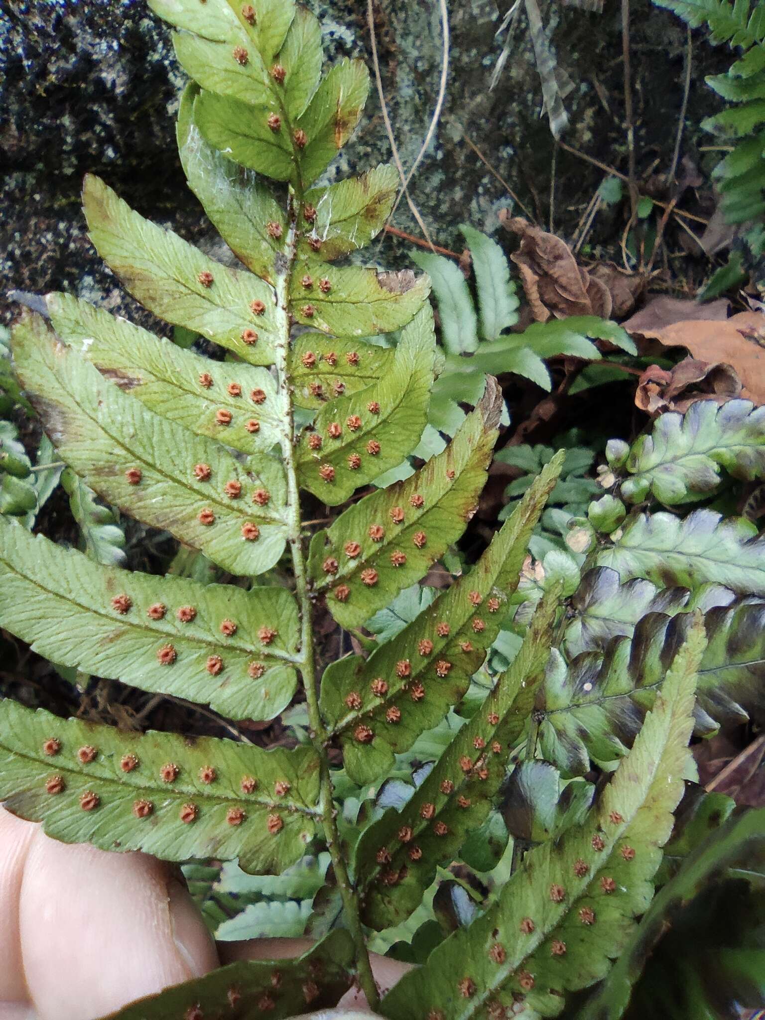
[[[321,20],[327,56],[362,56],[371,69],[366,3],[313,0],[311,6]],[[548,216],[553,144],[547,120],[540,116],[539,79],[522,21],[497,88],[489,88],[504,45],[505,36],[498,38],[496,33],[505,6],[502,0],[449,4],[447,102],[410,188],[434,240],[441,244],[461,248],[457,225],[463,220],[496,230],[498,209],[512,205],[465,135],[534,216],[543,221]],[[634,6],[635,31],[645,33],[647,24],[660,22],[661,47],[657,42],[656,53],[665,62],[674,61],[676,70],[684,33],[680,37],[670,32],[668,46],[670,15],[652,10],[649,0],[639,0]],[[375,0],[374,10],[384,87],[402,161],[408,167],[438,94],[439,3]],[[618,61],[613,60],[619,45],[618,17],[573,8],[559,13],[553,8],[553,17],[565,22],[554,38],[559,41],[559,62],[574,84],[566,99],[572,122],[569,139],[588,147],[595,137],[601,143],[596,154],[612,158],[607,147],[614,139],[620,144],[616,136],[621,126],[610,111],[604,112],[599,95],[605,93],[601,81],[593,86],[593,67],[613,65],[619,79]],[[645,40],[638,39],[636,45],[645,46]],[[143,214],[171,225],[212,254],[221,254],[200,206],[186,189],[175,150],[174,118],[184,82],[169,30],[144,0],[0,0],[0,151],[6,174],[0,181],[0,277],[6,287],[34,293],[72,291],[147,323],[146,313],[139,312],[115,286],[88,241],[80,189],[89,171],[104,177]],[[619,82],[616,99],[611,99],[617,113]],[[662,124],[671,147],[673,133],[666,131],[665,118]],[[329,175],[345,175],[356,165],[390,159],[372,88],[366,116]],[[566,176],[559,154],[559,194],[565,185],[570,192],[573,183],[577,194],[581,188],[590,189],[589,198],[601,178],[599,171],[593,173],[591,187],[583,183],[582,164],[574,161]],[[573,196],[566,194],[561,206],[572,201]],[[574,222],[577,217],[574,214]],[[421,233],[406,201],[396,214],[396,224]],[[407,247],[400,246],[402,258]],[[386,260],[391,262],[390,253]],[[4,298],[0,296],[0,318],[7,321],[14,312],[7,303],[3,306]]]

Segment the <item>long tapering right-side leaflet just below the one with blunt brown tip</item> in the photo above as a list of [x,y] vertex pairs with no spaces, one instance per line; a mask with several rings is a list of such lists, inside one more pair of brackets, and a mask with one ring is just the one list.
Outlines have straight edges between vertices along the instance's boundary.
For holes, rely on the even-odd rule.
[[340,736],[354,781],[382,774],[395,753],[406,751],[424,729],[439,723],[467,691],[500,630],[502,607],[517,588],[528,539],[561,460],[556,457],[545,468],[473,569],[395,642],[366,662],[345,659],[325,670],[322,712]]

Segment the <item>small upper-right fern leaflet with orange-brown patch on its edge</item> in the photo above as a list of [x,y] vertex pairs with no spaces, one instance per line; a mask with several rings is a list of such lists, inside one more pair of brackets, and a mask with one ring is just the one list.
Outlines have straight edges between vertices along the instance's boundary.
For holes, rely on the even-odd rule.
[[308,138],[297,157],[303,186],[323,173],[353,135],[368,92],[369,72],[363,60],[339,60],[324,75],[307,110],[296,121]]

